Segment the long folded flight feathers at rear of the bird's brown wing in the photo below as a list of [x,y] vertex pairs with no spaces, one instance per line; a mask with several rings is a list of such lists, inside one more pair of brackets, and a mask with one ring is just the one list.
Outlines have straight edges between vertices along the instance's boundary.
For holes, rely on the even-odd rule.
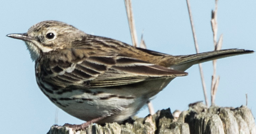
[[187,75],[185,72],[164,68],[134,58],[117,56],[116,63],[92,80],[90,84],[91,87],[105,87],[185,75]]

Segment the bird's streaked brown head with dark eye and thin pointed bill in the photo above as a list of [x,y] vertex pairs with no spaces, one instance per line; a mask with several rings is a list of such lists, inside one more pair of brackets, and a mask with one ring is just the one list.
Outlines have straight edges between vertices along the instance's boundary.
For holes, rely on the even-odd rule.
[[73,41],[86,34],[79,29],[59,21],[43,21],[30,27],[26,33],[6,36],[25,41],[31,59],[37,60],[43,53],[70,48]]

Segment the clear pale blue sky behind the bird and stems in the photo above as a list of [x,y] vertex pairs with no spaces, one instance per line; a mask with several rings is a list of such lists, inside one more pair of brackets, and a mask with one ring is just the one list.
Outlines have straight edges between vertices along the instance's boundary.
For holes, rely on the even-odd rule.
[[[255,0],[220,0],[218,3],[218,37],[223,33],[222,49],[256,50]],[[133,0],[138,39],[144,39],[150,50],[172,55],[194,54],[195,48],[185,0]],[[214,0],[193,0],[191,9],[199,51],[213,50],[210,24]],[[45,134],[55,124],[56,106],[36,84],[34,62],[23,41],[8,38],[9,33],[24,33],[44,20],[71,24],[88,34],[106,36],[131,44],[123,0],[100,1],[32,1],[0,2],[0,129],[1,133]],[[210,101],[212,62],[202,64]],[[152,101],[155,110],[187,110],[188,104],[204,100],[198,66],[186,77],[174,79]],[[217,62],[220,83],[216,104],[239,107],[246,104],[256,115],[256,54],[220,59]],[[148,114],[145,107],[138,116]],[[58,110],[58,125],[81,124],[84,121]]]

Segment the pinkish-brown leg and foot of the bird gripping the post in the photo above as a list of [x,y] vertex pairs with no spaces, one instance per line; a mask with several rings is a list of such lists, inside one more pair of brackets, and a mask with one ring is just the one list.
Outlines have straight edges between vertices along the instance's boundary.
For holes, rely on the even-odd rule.
[[92,119],[86,123],[83,123],[83,124],[80,124],[80,125],[71,125],[71,124],[64,124],[63,126],[64,127],[69,127],[69,128],[72,128],[74,131],[78,131],[78,130],[85,130],[89,125],[91,125],[92,123],[96,123],[102,119],[106,118],[106,116],[102,116],[102,117],[98,117],[98,118],[95,118],[95,119]]

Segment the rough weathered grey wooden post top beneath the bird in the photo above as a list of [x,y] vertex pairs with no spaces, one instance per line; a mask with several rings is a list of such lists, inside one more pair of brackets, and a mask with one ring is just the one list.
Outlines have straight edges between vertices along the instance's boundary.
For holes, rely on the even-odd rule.
[[168,108],[153,116],[134,117],[132,124],[94,124],[78,132],[55,125],[47,134],[256,134],[256,126],[252,112],[246,106],[207,108],[199,102],[190,104],[189,110],[181,112],[177,119]]

